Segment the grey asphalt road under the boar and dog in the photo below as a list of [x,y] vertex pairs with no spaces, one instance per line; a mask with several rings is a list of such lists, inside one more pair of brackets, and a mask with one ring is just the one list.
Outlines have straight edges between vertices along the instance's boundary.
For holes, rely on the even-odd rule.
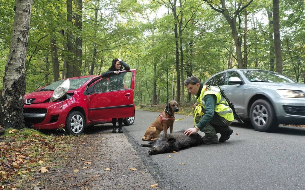
[[[158,115],[158,112],[137,110],[135,123],[124,127],[124,134],[160,188],[305,189],[305,129],[280,127],[277,133],[263,133],[249,125],[233,123],[234,132],[224,143],[149,156],[149,148],[140,146],[147,143],[141,138]],[[192,125],[189,116],[176,121],[174,131]],[[204,136],[200,131],[199,134]]]

